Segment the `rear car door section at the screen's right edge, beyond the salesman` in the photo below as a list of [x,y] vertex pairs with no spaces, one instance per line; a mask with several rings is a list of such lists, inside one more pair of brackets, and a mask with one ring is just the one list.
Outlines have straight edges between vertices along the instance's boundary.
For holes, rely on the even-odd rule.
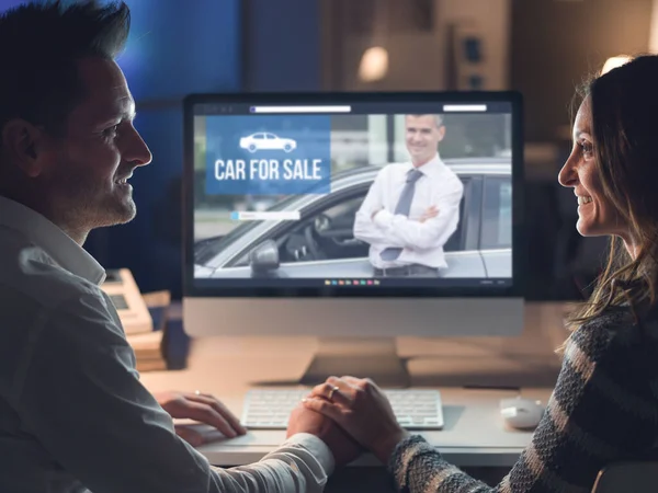
[[512,277],[512,182],[509,175],[486,176],[480,254],[487,277]]

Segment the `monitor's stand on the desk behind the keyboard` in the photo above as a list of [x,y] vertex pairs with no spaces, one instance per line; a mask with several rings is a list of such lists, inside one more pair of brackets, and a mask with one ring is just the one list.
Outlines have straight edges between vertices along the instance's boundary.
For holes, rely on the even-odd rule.
[[411,383],[394,337],[320,337],[299,382],[316,386],[329,377],[342,376],[370,378],[386,388],[407,388]]

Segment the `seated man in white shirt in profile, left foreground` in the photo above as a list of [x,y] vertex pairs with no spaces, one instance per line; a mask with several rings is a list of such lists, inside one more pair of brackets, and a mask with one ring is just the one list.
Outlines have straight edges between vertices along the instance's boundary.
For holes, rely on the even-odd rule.
[[[93,228],[133,219],[128,181],[151,161],[114,61],[128,26],[124,3],[95,1],[0,18],[0,491],[319,492],[358,454],[319,414],[297,409],[281,448],[232,470],[177,436],[82,250]],[[245,433],[211,395],[160,400]]]

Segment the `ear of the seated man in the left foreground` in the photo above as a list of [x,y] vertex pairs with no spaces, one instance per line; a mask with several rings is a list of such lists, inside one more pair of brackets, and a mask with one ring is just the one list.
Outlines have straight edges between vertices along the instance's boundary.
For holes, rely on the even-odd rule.
[[2,127],[2,148],[5,156],[30,177],[44,171],[39,150],[43,148],[44,131],[22,118],[9,121]]

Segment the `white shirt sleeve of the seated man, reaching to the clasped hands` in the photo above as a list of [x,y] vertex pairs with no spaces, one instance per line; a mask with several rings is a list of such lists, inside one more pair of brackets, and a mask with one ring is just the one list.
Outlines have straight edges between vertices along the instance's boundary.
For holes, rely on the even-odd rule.
[[87,294],[46,313],[16,383],[26,432],[56,462],[94,493],[324,490],[333,458],[305,434],[258,463],[211,467],[139,382],[109,305],[100,293]]

